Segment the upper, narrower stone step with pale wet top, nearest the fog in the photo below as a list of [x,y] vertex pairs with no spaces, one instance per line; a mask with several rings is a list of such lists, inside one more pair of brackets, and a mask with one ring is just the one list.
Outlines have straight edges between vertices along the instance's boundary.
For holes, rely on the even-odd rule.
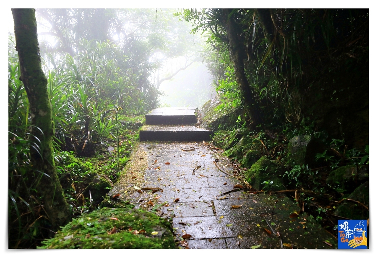
[[147,125],[189,125],[196,124],[196,108],[162,107],[145,115]]

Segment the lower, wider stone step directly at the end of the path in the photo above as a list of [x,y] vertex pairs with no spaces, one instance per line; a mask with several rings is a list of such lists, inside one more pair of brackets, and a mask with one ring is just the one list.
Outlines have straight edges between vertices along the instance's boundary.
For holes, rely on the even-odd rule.
[[140,141],[208,141],[210,130],[195,126],[144,125],[139,131]]

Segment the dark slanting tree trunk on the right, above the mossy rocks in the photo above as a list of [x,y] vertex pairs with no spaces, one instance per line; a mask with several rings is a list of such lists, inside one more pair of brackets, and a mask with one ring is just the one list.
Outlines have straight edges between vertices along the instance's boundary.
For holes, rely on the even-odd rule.
[[234,66],[234,73],[238,86],[243,93],[245,104],[248,112],[253,119],[253,127],[262,124],[261,114],[259,112],[259,104],[255,100],[255,93],[251,89],[250,84],[246,78],[245,65],[244,65],[244,44],[241,42],[241,37],[237,33],[237,24],[233,18],[230,17],[231,9],[224,9],[222,15],[222,23],[224,24],[225,31],[227,32],[230,57]]

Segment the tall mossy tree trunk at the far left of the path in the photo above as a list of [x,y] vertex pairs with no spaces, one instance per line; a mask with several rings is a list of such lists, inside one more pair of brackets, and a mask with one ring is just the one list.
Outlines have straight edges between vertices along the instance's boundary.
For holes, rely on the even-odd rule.
[[[28,94],[31,113],[32,168],[29,179],[36,179],[36,187],[44,200],[44,209],[54,229],[70,219],[69,205],[64,198],[54,163],[52,148],[52,108],[47,79],[41,67],[34,9],[12,9],[16,50],[20,60],[20,80]],[[32,175],[37,174],[37,176]]]

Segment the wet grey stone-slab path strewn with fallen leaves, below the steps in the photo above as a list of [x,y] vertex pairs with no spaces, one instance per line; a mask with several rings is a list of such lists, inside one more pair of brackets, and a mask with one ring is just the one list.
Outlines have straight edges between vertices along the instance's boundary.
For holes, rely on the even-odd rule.
[[[285,194],[240,190],[221,195],[244,183],[216,167],[218,150],[201,142],[141,142],[138,147],[147,156],[143,187],[163,190],[150,199],[157,199],[159,214],[171,220],[180,248],[336,247],[310,216],[294,214],[299,208]],[[216,163],[233,174],[226,161]],[[146,206],[146,194],[135,190],[135,208]]]

